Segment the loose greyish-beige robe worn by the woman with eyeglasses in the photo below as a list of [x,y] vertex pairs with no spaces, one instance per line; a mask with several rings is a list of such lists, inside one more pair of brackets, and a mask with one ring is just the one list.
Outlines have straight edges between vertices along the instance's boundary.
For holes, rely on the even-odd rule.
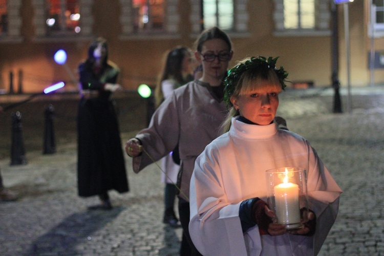
[[136,135],[145,152],[133,159],[134,172],[161,159],[179,142],[180,197],[189,201],[195,160],[219,136],[226,114],[225,103],[215,96],[208,83],[195,80],[176,89],[155,111],[150,125]]

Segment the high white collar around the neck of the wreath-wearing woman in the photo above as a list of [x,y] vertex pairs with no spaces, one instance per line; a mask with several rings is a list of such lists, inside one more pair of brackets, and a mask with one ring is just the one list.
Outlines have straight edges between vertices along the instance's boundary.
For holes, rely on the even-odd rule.
[[232,118],[232,125],[229,129],[231,136],[243,139],[266,139],[278,132],[274,122],[268,125],[248,124],[237,120],[239,116]]

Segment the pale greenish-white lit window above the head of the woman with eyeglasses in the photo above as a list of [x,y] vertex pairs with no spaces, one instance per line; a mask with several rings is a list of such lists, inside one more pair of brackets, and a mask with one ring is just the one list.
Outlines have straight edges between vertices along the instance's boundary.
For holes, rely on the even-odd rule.
[[203,29],[233,29],[233,0],[202,0]]

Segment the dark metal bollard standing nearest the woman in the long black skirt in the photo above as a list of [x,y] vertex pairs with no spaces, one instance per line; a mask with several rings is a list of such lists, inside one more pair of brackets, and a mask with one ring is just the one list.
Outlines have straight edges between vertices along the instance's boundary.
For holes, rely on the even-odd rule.
[[45,130],[44,146],[42,154],[53,154],[56,152],[55,134],[53,130],[53,119],[55,118],[55,109],[49,104],[44,111]]

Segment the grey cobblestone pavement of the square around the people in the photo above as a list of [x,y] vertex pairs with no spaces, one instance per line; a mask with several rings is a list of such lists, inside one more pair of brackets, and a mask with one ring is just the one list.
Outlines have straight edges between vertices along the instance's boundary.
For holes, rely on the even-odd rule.
[[[346,112],[346,91],[341,93]],[[384,255],[384,87],[353,89],[351,114],[333,114],[332,95],[330,89],[287,91],[278,112],[291,131],[311,142],[344,190],[320,255]],[[145,125],[132,102],[125,104],[131,104],[127,108],[135,110],[138,119],[132,121],[121,108],[120,126],[130,126],[121,129],[122,145]],[[131,191],[111,192],[113,210],[87,210],[98,200],[77,196],[75,120],[74,115],[60,114],[59,105],[54,154],[43,155],[37,148],[41,136],[35,135],[35,141],[32,137],[41,127],[33,133],[26,129],[41,120],[30,118],[35,123],[26,121],[24,126],[28,163],[10,165],[4,153],[10,148],[4,137],[9,131],[0,128],[4,183],[20,195],[16,202],[0,202],[0,255],[177,255],[182,232],[161,222],[163,184],[157,165],[134,174],[126,157]],[[72,108],[64,105],[66,112]]]

